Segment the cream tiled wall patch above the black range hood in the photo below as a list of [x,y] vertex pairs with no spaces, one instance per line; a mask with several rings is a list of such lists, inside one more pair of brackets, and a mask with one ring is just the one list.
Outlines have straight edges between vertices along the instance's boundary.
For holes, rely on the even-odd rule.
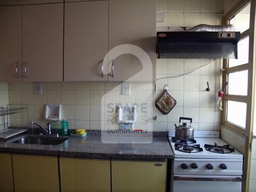
[[223,0],[157,0],[157,11],[165,14],[157,27],[222,25]]

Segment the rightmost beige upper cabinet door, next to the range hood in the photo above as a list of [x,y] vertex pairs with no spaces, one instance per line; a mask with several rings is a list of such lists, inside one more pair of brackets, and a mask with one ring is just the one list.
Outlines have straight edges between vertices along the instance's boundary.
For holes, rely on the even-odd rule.
[[[125,81],[131,77],[131,81],[152,80],[156,62],[155,0],[110,0],[109,3],[109,50],[122,44],[135,45],[146,51],[153,63],[144,62],[142,66],[141,59],[145,55],[139,51],[136,52],[140,59],[133,54],[123,54],[114,59],[110,54],[110,65],[114,59],[114,77],[110,74],[109,80]],[[127,50],[134,48],[125,47],[124,53]]]

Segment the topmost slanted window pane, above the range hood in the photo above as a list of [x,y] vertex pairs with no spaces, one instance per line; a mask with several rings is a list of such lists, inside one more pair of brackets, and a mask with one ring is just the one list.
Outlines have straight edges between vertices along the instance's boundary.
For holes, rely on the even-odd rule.
[[232,19],[229,20],[229,23],[235,26],[235,31],[246,31],[250,28],[250,3],[239,11]]

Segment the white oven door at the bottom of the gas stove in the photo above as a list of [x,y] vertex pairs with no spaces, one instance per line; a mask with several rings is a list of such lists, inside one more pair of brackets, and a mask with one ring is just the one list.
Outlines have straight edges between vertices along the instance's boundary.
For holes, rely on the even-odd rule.
[[173,192],[241,192],[241,176],[174,175]]

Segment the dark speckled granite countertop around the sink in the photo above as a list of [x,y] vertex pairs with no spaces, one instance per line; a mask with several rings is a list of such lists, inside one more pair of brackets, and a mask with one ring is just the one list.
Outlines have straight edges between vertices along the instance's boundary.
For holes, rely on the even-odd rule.
[[[173,158],[167,137],[153,137],[151,143],[102,143],[101,135],[87,135],[85,138],[68,137],[60,145],[32,145],[0,140],[0,152],[55,155],[62,157],[83,157],[103,159],[163,160]],[[137,138],[138,139],[138,138]]]

